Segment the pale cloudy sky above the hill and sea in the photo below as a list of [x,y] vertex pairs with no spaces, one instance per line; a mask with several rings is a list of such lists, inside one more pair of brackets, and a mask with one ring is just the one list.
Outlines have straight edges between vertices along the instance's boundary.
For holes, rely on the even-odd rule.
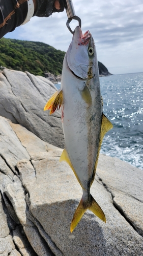
[[[97,57],[111,74],[143,72],[143,1],[72,0],[81,18],[82,33],[90,30]],[[32,17],[30,22],[5,35],[6,38],[41,41],[67,51],[72,34],[66,27],[66,11],[50,17]],[[74,28],[78,23],[70,23]]]

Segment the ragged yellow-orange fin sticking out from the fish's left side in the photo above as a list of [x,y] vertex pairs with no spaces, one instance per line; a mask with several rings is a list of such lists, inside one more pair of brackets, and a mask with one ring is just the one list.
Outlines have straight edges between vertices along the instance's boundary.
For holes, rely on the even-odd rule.
[[56,91],[48,100],[44,107],[45,110],[50,110],[50,115],[54,113],[55,110],[60,110],[63,103],[63,90],[59,89]]

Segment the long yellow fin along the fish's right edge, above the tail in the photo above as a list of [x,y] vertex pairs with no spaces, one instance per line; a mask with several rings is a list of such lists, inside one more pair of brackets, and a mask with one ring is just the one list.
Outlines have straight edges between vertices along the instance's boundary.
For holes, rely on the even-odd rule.
[[109,119],[102,113],[102,123],[101,123],[101,132],[100,132],[100,141],[99,141],[99,146],[98,146],[98,152],[97,152],[97,157],[96,157],[96,162],[95,162],[95,166],[94,166],[94,171],[93,171],[93,175],[92,175],[92,180],[91,180],[91,185],[94,181],[94,177],[95,177],[95,172],[96,172],[96,168],[97,168],[97,163],[98,163],[98,158],[99,158],[99,152],[100,152],[100,148],[101,148],[101,144],[102,144],[102,140],[104,138],[104,135],[110,130],[112,129],[113,125],[112,123],[109,121]]

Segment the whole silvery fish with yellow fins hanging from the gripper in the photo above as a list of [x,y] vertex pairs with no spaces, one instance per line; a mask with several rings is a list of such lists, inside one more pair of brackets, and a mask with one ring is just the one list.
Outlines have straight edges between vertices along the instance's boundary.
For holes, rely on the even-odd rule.
[[95,178],[104,135],[113,126],[103,114],[97,53],[92,34],[82,34],[77,26],[63,61],[61,88],[45,105],[50,114],[61,108],[65,148],[60,161],[66,161],[80,186],[82,198],[75,210],[70,231],[89,209],[106,222],[103,210],[90,193]]

